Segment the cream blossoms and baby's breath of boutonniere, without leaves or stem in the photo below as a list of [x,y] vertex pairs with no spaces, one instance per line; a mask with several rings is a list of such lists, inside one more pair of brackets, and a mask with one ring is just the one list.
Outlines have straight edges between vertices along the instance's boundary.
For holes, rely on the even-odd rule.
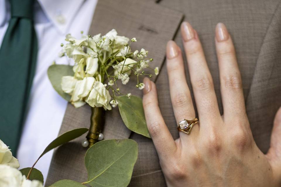
[[[127,37],[118,36],[114,29],[104,36],[81,34],[81,39],[67,34],[67,43],[61,44],[62,51],[59,53],[59,56],[67,56],[74,61],[74,76],[64,76],[61,87],[71,95],[71,103],[75,107],[88,103],[92,107],[111,110],[118,105],[116,94],[131,97],[131,93],[121,93],[117,81],[126,85],[130,76],[136,76],[136,87],[143,89],[145,85],[140,82],[140,76],[152,77],[144,70],[150,68],[149,63],[153,61],[148,58],[148,51],[143,48],[131,51],[131,43],[137,42],[136,38],[129,42]],[[158,75],[158,67],[154,72]]]

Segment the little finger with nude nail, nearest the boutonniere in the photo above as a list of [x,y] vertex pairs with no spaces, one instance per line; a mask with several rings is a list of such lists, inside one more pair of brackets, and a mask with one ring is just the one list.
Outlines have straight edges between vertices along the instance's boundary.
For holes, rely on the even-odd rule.
[[146,124],[160,159],[169,158],[176,151],[176,144],[158,106],[155,84],[148,78],[144,80],[143,109]]

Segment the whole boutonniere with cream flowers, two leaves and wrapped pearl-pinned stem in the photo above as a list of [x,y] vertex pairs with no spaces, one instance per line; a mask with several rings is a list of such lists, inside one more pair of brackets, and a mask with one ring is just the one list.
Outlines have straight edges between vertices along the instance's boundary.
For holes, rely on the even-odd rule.
[[[148,58],[148,51],[143,48],[140,51],[131,51],[131,44],[137,42],[137,39],[129,40],[127,37],[118,36],[115,29],[104,36],[97,34],[92,37],[81,33],[80,39],[67,34],[67,43],[61,44],[59,56],[66,56],[73,66],[54,64],[49,67],[48,75],[54,89],[74,107],[85,104],[92,107],[91,126],[87,140],[82,142],[83,146],[90,147],[103,139],[105,110],[112,110],[112,107],[121,102],[129,105],[134,112],[143,114],[141,99],[131,93],[123,93],[118,85],[126,85],[131,76],[136,76],[136,88],[143,89],[145,85],[140,82],[140,76],[153,76],[145,73],[145,68],[150,68],[149,63],[153,59]],[[154,72],[158,74],[158,67]],[[150,137],[144,115],[141,120],[144,122],[138,123],[137,129],[140,131],[136,131],[133,127],[136,124],[131,123],[139,119],[126,119],[136,114],[131,115],[132,111],[124,109],[122,105],[119,110],[129,129]]]

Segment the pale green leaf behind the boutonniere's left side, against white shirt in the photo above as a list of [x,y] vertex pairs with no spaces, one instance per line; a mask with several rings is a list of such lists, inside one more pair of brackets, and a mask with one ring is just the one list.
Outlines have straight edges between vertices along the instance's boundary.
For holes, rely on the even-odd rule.
[[56,90],[56,92],[61,95],[65,100],[70,101],[71,95],[68,93],[64,93],[61,89],[61,77],[63,76],[73,76],[74,72],[72,70],[73,66],[71,65],[59,65],[54,64],[48,68],[48,77],[51,81],[52,86]]

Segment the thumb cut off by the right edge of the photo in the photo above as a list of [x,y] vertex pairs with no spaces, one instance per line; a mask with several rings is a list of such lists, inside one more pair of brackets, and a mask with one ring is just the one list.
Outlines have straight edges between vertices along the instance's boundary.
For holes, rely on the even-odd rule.
[[266,156],[271,163],[271,166],[276,168],[281,175],[281,107],[278,109],[270,138],[270,148]]

